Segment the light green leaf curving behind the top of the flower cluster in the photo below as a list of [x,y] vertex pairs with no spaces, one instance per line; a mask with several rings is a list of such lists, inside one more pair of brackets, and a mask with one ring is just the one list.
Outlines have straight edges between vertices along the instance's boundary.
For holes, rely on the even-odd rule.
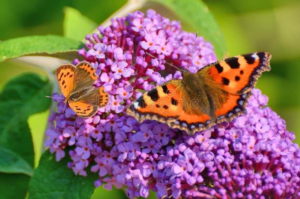
[[224,36],[209,8],[201,0],[149,0],[143,7],[154,8],[163,16],[179,20],[187,31],[198,31],[212,43],[219,59],[228,54]]

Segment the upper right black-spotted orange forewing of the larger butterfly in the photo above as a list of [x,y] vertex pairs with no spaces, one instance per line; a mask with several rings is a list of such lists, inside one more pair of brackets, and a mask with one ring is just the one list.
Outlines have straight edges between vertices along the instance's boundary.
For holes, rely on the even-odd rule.
[[197,74],[209,75],[229,93],[243,94],[253,88],[264,71],[270,71],[270,58],[271,55],[268,52],[230,57],[205,66]]

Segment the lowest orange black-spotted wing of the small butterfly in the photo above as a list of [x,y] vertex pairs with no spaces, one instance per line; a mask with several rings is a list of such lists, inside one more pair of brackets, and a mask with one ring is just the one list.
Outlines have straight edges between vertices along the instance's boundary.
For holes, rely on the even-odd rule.
[[85,101],[69,102],[69,106],[78,116],[83,118],[91,117],[98,111],[98,106],[90,105]]

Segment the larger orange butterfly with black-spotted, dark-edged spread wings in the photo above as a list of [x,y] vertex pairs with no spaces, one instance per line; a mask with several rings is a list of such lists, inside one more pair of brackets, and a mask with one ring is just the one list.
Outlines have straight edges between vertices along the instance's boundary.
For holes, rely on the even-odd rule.
[[268,52],[254,52],[212,63],[196,74],[184,71],[146,92],[127,109],[139,122],[157,120],[188,134],[231,121],[245,113],[257,79],[270,71]]

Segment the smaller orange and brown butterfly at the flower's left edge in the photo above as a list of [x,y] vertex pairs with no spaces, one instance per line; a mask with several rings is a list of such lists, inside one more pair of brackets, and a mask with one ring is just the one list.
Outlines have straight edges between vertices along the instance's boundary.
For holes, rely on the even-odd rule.
[[79,116],[88,118],[97,113],[99,107],[108,103],[108,94],[103,87],[92,84],[97,80],[95,69],[88,62],[76,66],[63,64],[56,71],[60,91],[65,103]]

